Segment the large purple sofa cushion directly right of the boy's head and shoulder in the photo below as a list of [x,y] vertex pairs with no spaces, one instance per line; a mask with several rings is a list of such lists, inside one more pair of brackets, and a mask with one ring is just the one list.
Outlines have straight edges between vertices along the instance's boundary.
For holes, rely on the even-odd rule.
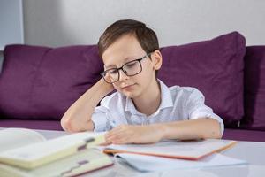
[[244,36],[233,32],[210,41],[165,47],[158,77],[168,86],[200,89],[225,126],[236,126],[244,114],[245,45]]

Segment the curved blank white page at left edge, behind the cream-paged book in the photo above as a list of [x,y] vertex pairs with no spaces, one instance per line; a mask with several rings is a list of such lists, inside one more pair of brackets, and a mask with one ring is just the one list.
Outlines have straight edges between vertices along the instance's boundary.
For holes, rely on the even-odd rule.
[[0,130],[0,152],[23,147],[30,143],[45,141],[43,135],[27,128],[5,128]]

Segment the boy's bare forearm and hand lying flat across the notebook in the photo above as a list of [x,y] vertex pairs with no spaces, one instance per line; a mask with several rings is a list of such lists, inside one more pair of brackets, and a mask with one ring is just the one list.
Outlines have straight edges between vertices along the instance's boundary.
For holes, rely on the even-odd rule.
[[162,139],[193,140],[201,138],[221,138],[220,124],[216,119],[201,118],[158,123],[147,126],[123,125],[108,132],[107,142],[152,143]]

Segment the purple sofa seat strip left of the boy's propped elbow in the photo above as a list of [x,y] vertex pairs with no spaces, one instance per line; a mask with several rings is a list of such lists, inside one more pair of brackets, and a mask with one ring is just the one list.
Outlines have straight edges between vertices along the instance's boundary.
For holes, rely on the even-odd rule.
[[0,127],[25,127],[42,130],[63,130],[57,120],[0,119]]

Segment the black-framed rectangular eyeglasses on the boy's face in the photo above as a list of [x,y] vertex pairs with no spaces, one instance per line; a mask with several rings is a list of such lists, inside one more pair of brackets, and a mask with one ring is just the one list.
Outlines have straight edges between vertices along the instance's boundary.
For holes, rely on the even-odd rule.
[[127,76],[133,76],[142,71],[142,66],[140,61],[144,58],[148,58],[151,55],[151,53],[148,53],[142,58],[134,59],[133,61],[129,61],[122,65],[119,68],[111,68],[107,69],[102,73],[103,79],[108,83],[114,83],[119,80],[119,70],[122,70]]

